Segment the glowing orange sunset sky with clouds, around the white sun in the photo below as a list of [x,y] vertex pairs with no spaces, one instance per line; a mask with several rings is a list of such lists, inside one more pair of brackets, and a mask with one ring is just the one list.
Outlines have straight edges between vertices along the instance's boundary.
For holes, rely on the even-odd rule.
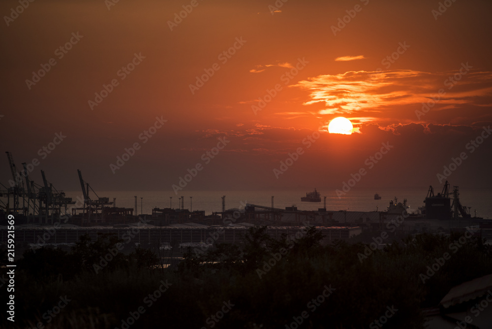
[[38,184],[492,184],[488,0],[22,3],[0,3],[0,143]]

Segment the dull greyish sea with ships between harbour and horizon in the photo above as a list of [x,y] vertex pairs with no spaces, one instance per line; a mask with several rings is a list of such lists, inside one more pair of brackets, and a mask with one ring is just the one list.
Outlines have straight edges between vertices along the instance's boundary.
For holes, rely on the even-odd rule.
[[[135,196],[137,197],[137,214],[152,214],[152,209],[179,208],[180,198],[184,199],[184,209],[191,211],[202,210],[206,215],[222,211],[222,197],[225,196],[225,209],[244,209],[246,203],[282,208],[296,205],[298,210],[318,210],[323,208],[323,197],[326,197],[326,208],[329,211],[384,211],[390,200],[403,202],[410,206],[410,212],[424,205],[427,196],[426,188],[379,188],[353,189],[344,195],[336,193],[333,189],[317,188],[321,194],[321,202],[302,202],[307,192],[299,189],[272,190],[272,191],[180,191],[177,195],[174,191],[97,191],[98,197],[108,197],[110,201],[116,198],[117,207],[135,208]],[[434,193],[437,194],[437,190]],[[65,192],[67,197],[73,200],[82,200],[81,191]],[[374,199],[374,194],[381,196],[380,200]],[[92,199],[96,196],[89,195]],[[478,216],[492,219],[492,189],[462,189],[460,188],[460,202],[463,206],[471,207],[472,217]],[[135,214],[135,212],[134,212]]]

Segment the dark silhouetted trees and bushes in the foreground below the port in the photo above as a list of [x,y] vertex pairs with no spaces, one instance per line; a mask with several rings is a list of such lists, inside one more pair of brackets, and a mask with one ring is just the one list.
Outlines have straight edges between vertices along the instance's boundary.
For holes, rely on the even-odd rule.
[[[273,239],[255,227],[242,244],[191,248],[166,269],[151,250],[123,253],[110,235],[83,237],[70,252],[28,251],[16,269],[15,326],[297,328],[297,319],[299,328],[368,328],[393,306],[386,328],[424,328],[422,308],[492,273],[491,248],[477,237],[419,234],[366,257],[367,244],[321,239],[314,228]],[[54,308],[65,296],[66,306]],[[0,320],[1,328],[15,326]]]

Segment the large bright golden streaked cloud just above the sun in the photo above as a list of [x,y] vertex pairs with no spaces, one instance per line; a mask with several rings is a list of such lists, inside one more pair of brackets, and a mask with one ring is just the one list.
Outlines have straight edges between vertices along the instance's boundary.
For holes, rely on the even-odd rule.
[[[434,103],[432,113],[422,119],[442,120],[436,123],[450,122],[456,117],[453,111],[471,107],[490,117],[492,72],[470,70],[464,75],[459,72],[349,71],[319,75],[299,81],[294,87],[308,91],[309,99],[304,105],[325,106],[318,110],[319,114],[364,117],[360,122],[417,121],[415,111],[421,110],[422,103]],[[454,77],[459,77],[459,81],[450,79]]]

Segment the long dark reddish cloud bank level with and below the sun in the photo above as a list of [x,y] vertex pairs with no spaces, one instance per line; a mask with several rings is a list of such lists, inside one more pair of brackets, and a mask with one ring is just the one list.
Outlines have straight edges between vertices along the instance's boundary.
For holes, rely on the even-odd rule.
[[[357,118],[350,118],[357,119]],[[365,118],[361,118],[365,119]],[[374,153],[374,145],[378,145],[381,142],[390,141],[391,143],[400,141],[402,148],[399,152],[406,152],[409,154],[415,154],[422,159],[431,154],[431,150],[436,146],[436,150],[432,153],[434,156],[438,154],[448,152],[446,145],[449,145],[450,140],[455,143],[464,145],[471,138],[475,138],[483,130],[483,126],[490,126],[491,122],[481,122],[475,126],[464,125],[434,125],[434,124],[393,124],[386,127],[380,126],[375,123],[365,122],[357,127],[354,127],[354,132],[350,136],[339,136],[330,134],[326,129],[320,129],[319,142],[314,143],[315,148],[319,150],[320,157],[323,152],[330,154],[332,150],[341,150],[343,148],[350,149],[350,153],[354,156],[359,152],[363,152],[365,157]],[[190,146],[185,146],[188,150],[201,151],[210,149],[210,145],[213,145],[215,140],[219,137],[226,136],[231,141],[231,152],[247,153],[250,155],[269,154],[278,155],[292,152],[298,147],[303,147],[303,140],[307,136],[312,135],[311,129],[298,129],[298,128],[281,128],[272,127],[262,124],[245,124],[244,126],[235,127],[234,130],[208,130],[200,131],[199,138],[200,143]],[[341,143],[341,144],[340,144]],[[491,144],[483,147],[483,152],[486,149],[491,150]],[[405,147],[403,147],[405,146]],[[420,152],[420,149],[426,149],[428,152]],[[487,151],[490,152],[490,151]],[[488,154],[488,153],[487,153]],[[486,156],[485,154],[484,156]],[[362,160],[365,159],[362,158]],[[405,157],[402,157],[404,160]],[[269,161],[270,159],[265,159]],[[419,160],[420,161],[420,160]],[[442,159],[441,159],[442,161]],[[418,161],[417,161],[418,163]]]

